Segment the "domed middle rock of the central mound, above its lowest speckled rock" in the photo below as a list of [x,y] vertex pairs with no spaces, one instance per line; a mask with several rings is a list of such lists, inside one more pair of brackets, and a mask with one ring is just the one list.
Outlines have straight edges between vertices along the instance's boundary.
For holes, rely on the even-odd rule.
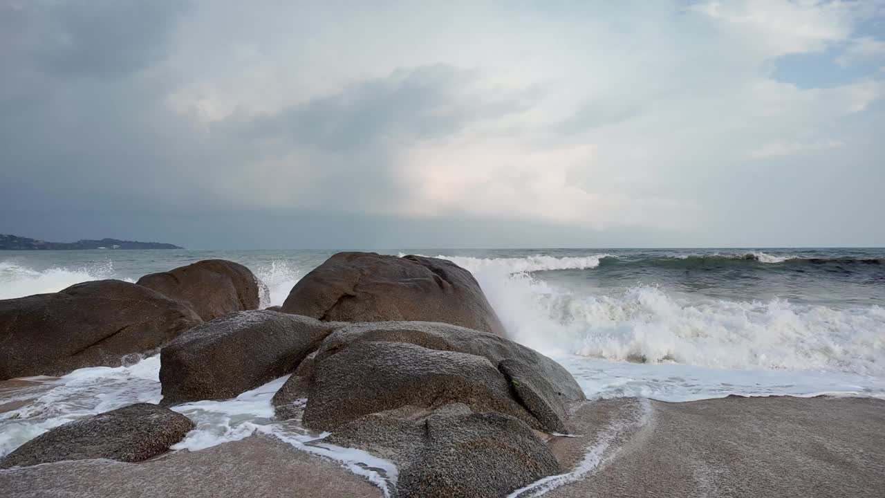
[[304,424],[315,430],[329,431],[406,405],[435,408],[451,402],[540,427],[512,399],[510,385],[495,365],[474,354],[366,341],[325,356],[314,368]]

